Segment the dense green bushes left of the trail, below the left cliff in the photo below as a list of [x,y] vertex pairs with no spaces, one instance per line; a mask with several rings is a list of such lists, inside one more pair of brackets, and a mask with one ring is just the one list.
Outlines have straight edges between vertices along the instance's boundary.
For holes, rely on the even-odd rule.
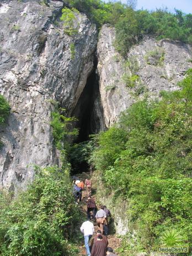
[[74,204],[68,166],[35,167],[28,189],[10,199],[0,193],[0,254],[2,256],[72,256],[78,250],[79,210]]

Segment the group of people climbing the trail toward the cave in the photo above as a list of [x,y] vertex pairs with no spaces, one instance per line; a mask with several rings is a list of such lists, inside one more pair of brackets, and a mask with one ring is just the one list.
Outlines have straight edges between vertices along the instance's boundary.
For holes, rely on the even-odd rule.
[[[116,254],[113,253],[113,249],[108,247],[108,224],[111,212],[105,205],[100,206],[100,209],[97,211],[96,202],[91,196],[92,182],[90,180],[80,180],[78,177],[75,177],[73,185],[76,202],[78,202],[78,199],[79,201],[82,200],[84,185],[86,185],[88,189],[88,199],[86,201],[87,221],[84,221],[80,228],[81,232],[84,234],[87,256],[116,256]],[[97,223],[98,230],[93,238],[94,221]]]

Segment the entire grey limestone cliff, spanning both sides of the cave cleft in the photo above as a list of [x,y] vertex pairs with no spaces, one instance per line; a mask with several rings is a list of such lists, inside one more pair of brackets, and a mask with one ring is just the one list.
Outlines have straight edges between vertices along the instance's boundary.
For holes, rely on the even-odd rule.
[[55,101],[67,115],[77,115],[85,139],[114,124],[144,94],[177,88],[191,66],[189,45],[152,38],[132,47],[124,61],[113,46],[114,28],[103,26],[97,47],[95,25],[78,12],[73,20],[78,31],[68,36],[60,20],[65,4],[49,2],[0,4],[0,93],[12,108],[8,125],[0,127],[0,187],[10,190],[33,179],[31,163],[60,164],[50,127]]

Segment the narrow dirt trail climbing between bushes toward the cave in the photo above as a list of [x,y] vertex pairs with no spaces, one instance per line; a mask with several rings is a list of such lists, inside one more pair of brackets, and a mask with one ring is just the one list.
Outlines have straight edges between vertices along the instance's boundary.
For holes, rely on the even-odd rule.
[[[89,173],[81,173],[81,174],[77,174],[77,175],[80,179],[83,179],[83,180],[91,179]],[[95,184],[92,184],[92,191],[93,191],[92,198],[95,200],[97,207],[99,207],[99,204],[97,203],[98,202],[97,198],[95,196],[95,192],[97,191],[97,186]],[[86,215],[86,216],[87,216],[87,204],[86,204],[87,199],[88,199],[88,190],[85,186],[84,189],[83,189],[83,193],[82,193],[82,202],[79,204],[79,206],[81,207],[82,214]],[[95,222],[93,224],[94,224],[94,230],[95,230],[95,233],[96,233],[97,230],[98,230],[98,227],[97,227],[97,224]],[[109,232],[108,242],[109,242],[108,246],[112,247],[114,249],[114,252],[115,252],[116,249],[120,247],[121,239],[118,238],[116,234],[110,234],[110,232]],[[118,253],[116,253],[116,254],[118,255]],[[78,256],[84,256],[84,255],[87,255],[86,254],[86,249],[84,247],[84,244],[81,244],[81,246],[79,246]]]

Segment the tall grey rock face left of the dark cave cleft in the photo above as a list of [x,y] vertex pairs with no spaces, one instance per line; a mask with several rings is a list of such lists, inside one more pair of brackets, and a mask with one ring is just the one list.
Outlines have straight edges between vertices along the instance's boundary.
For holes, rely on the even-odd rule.
[[93,69],[95,25],[75,13],[78,33],[64,34],[62,8],[60,1],[45,6],[33,0],[0,6],[0,93],[12,108],[8,125],[0,128],[0,186],[10,190],[33,179],[30,163],[59,163],[50,127],[52,102],[70,114]]

